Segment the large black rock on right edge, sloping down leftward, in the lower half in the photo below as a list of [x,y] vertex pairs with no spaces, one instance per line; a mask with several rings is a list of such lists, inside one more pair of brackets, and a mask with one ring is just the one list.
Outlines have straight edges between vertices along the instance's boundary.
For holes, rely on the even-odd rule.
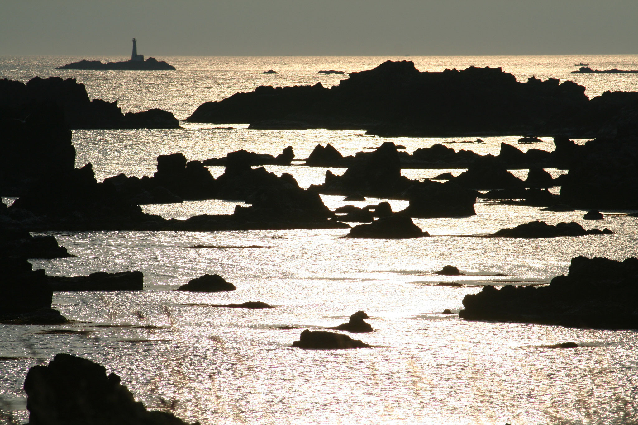
[[638,259],[576,257],[567,276],[545,287],[491,285],[466,295],[468,320],[556,324],[575,328],[638,329]]

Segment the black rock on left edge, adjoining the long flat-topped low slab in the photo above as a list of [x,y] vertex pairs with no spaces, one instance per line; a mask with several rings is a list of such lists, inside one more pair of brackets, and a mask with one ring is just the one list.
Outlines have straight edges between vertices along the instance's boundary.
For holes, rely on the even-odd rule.
[[59,324],[66,318],[51,308],[53,292],[43,269],[33,270],[24,257],[0,257],[0,322]]

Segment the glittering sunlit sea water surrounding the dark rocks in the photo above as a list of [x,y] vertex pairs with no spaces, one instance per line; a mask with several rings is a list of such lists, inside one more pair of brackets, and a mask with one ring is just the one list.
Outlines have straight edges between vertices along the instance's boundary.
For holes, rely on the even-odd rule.
[[[638,75],[570,74],[584,62],[594,69],[638,69],[638,55],[438,57],[158,57],[177,71],[77,71],[56,66],[80,59],[125,57],[0,56],[0,78],[26,82],[61,76],[84,83],[89,96],[118,101],[122,112],[162,108],[186,119],[205,101],[218,101],[258,85],[338,85],[346,73],[387,61],[413,61],[420,71],[501,67],[525,82],[572,80],[590,97],[605,90],[638,91]],[[278,74],[262,74],[274,69]],[[156,157],[181,152],[188,160],[246,149],[279,154],[292,146],[297,160],[318,144],[342,154],[370,150],[386,139],[352,130],[256,130],[246,123],[182,123],[180,129],[74,130],[76,166],[93,164],[96,178],[119,173],[152,175]],[[435,143],[473,138],[394,138],[412,153]],[[521,150],[517,136],[486,137],[456,150],[498,154],[501,142]],[[586,140],[577,140],[584,143]],[[293,161],[267,166],[292,174],[302,187],[320,184],[325,168]],[[221,167],[209,167],[212,175]],[[344,169],[332,169],[341,174]],[[410,178],[458,175],[463,169],[404,169]],[[548,169],[553,176],[566,170]],[[525,177],[527,170],[512,170]],[[560,188],[552,191],[558,193]],[[344,201],[322,196],[330,208],[365,206],[386,199]],[[3,198],[10,204],[13,199]],[[393,210],[406,201],[389,200]],[[212,199],[146,205],[145,212],[186,219],[232,213],[241,201]],[[347,229],[220,232],[59,232],[77,257],[32,259],[48,275],[141,270],[141,292],[55,292],[53,306],[71,320],[59,326],[0,325],[0,408],[26,422],[27,370],[64,352],[115,372],[149,409],[188,422],[212,424],[631,424],[638,421],[638,333],[505,322],[468,322],[457,314],[463,297],[482,285],[547,284],[566,274],[577,256],[622,260],[638,254],[638,219],[628,210],[586,212],[478,201],[477,215],[415,219],[432,237],[353,240]],[[521,240],[468,238],[531,220],[576,221],[615,234]],[[216,245],[223,249],[195,249]],[[257,245],[260,248],[240,248]],[[434,274],[456,266],[465,275]],[[214,294],[171,291],[205,273],[236,285]],[[504,276],[494,276],[500,273]],[[457,285],[450,285],[457,284]],[[458,285],[460,284],[460,285]],[[263,301],[275,308],[249,310],[212,304]],[[375,331],[353,335],[370,349],[293,348],[303,329],[348,321],[359,310]],[[605,312],[600,312],[604,314]],[[299,329],[278,329],[292,326]],[[575,342],[575,349],[547,345]]]

